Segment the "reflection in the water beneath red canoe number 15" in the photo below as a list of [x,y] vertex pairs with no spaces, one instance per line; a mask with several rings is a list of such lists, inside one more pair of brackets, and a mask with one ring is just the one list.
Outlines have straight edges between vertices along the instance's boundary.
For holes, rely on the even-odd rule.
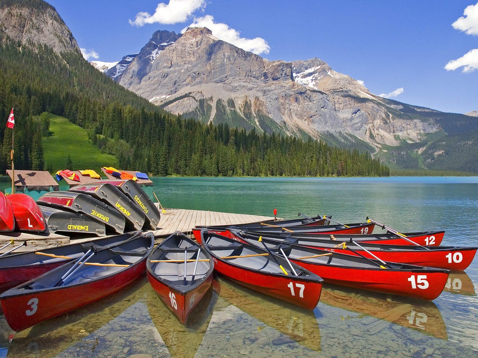
[[[369,293],[333,284],[324,285],[320,302],[360,314],[354,317],[342,316],[342,319],[372,316],[396,325],[413,328],[436,338],[448,338],[443,317],[433,302],[376,292]],[[369,334],[375,334],[385,326],[383,322],[376,321],[368,325],[366,329]]]

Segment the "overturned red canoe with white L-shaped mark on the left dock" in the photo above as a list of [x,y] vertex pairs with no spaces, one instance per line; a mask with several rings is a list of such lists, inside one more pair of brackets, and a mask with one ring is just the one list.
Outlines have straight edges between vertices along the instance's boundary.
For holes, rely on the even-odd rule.
[[36,232],[46,230],[43,212],[31,196],[17,193],[7,195],[7,199],[11,202],[18,230]]

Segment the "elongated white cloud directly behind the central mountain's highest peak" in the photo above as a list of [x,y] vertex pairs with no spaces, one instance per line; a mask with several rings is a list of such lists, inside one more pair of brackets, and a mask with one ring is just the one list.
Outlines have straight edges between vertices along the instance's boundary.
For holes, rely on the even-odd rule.
[[[214,17],[211,15],[195,18],[194,22],[188,27],[207,27],[219,40],[232,43],[234,46],[252,53],[269,53],[269,50],[271,49],[271,47],[263,38],[255,37],[253,39],[246,39],[244,37],[240,37],[239,31],[231,29],[225,23],[214,22]],[[187,27],[185,27],[181,32],[184,33],[186,30]]]

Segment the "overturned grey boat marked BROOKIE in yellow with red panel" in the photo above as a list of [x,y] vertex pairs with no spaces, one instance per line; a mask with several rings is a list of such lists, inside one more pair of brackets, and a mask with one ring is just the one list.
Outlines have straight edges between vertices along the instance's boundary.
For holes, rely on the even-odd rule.
[[53,206],[66,211],[76,211],[85,214],[88,218],[103,222],[115,232],[124,232],[125,219],[116,209],[109,207],[95,198],[75,193],[73,191],[52,191],[42,195],[38,204]]

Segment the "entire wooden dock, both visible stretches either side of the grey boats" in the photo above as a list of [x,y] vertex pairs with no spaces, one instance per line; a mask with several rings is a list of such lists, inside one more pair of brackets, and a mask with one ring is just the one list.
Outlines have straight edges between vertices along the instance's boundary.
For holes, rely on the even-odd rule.
[[[166,209],[166,213],[161,214],[161,219],[157,229],[146,230],[146,232],[153,232],[155,236],[163,236],[176,231],[190,232],[196,225],[243,224],[247,222],[273,219],[274,218],[271,216],[234,214],[230,212]],[[15,250],[15,253],[19,253],[48,249],[50,247],[62,246],[69,243],[88,242],[98,239],[98,237],[95,236],[81,239],[72,238],[70,240],[68,236],[54,233],[2,232],[0,235],[0,247],[11,241],[11,239],[13,239],[15,246],[22,244],[22,242],[27,243],[27,246],[22,246]],[[4,253],[12,247],[13,246],[9,245],[1,250],[0,253]]]

